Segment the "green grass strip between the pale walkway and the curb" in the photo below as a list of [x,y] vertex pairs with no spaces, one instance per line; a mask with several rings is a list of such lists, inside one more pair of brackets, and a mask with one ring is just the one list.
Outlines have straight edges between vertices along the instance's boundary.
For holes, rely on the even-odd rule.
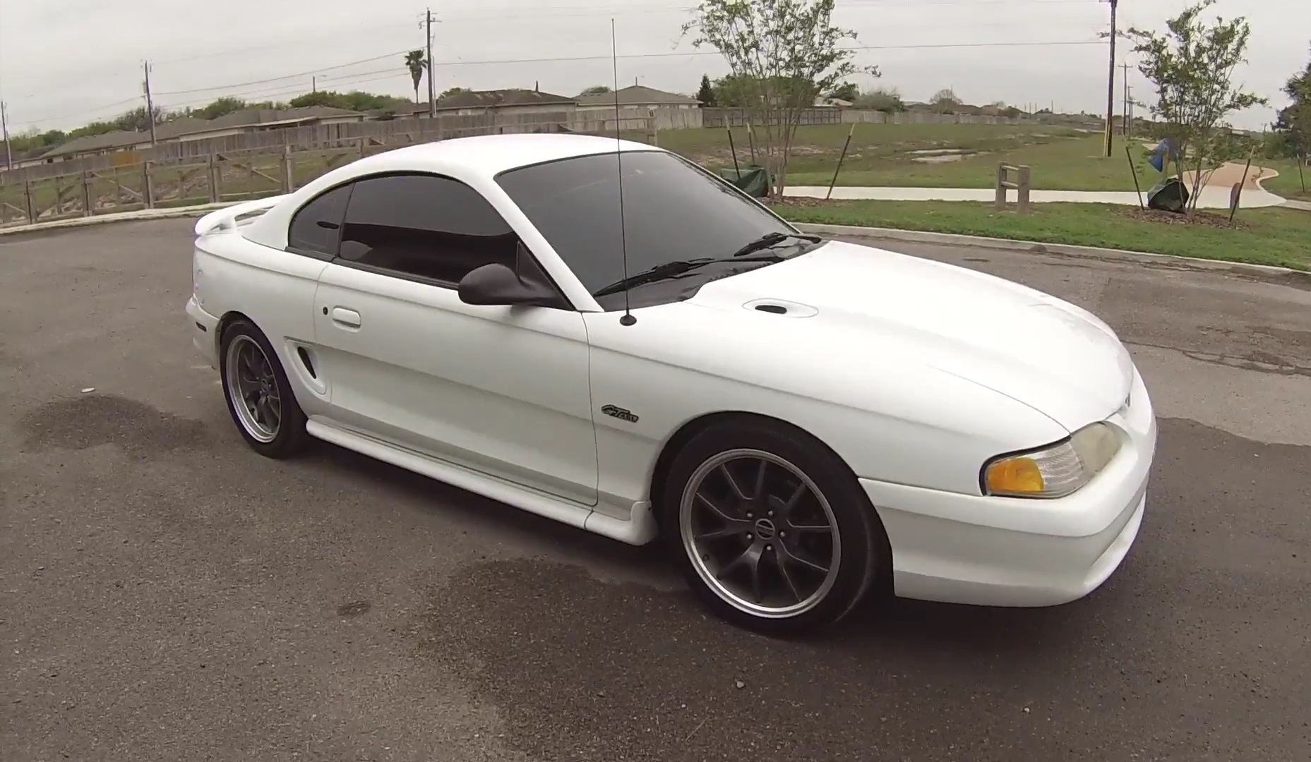
[[1108,204],[1034,204],[1032,209],[1017,215],[983,203],[864,200],[775,207],[796,223],[961,233],[1311,270],[1311,213],[1297,209],[1243,209],[1238,217],[1242,228],[1137,220],[1124,213],[1125,207]]

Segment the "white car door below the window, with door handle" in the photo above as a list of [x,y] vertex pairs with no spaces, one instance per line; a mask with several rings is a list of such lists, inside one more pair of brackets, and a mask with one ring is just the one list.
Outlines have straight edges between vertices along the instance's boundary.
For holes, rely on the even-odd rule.
[[340,423],[595,504],[581,314],[468,305],[451,288],[332,263],[315,319]]

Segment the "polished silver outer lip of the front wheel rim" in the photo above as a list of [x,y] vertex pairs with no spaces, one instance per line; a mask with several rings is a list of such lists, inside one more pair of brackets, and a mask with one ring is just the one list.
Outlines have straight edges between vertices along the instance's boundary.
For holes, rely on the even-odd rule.
[[[829,571],[825,575],[823,581],[805,600],[789,606],[764,606],[751,600],[747,600],[741,594],[738,594],[737,592],[732,590],[728,585],[720,581],[714,576],[714,572],[711,571],[711,568],[707,566],[705,559],[703,559],[703,553],[700,553],[701,549],[699,547],[699,543],[694,534],[694,528],[692,528],[694,503],[696,500],[696,494],[700,490],[701,483],[705,481],[707,477],[711,475],[711,473],[713,473],[720,466],[735,460],[746,460],[746,458],[764,460],[768,461],[770,463],[787,469],[796,479],[798,479],[802,484],[805,484],[808,490],[810,490],[812,495],[814,495],[815,500],[819,504],[819,508],[823,511],[825,520],[829,522],[829,526],[831,529],[832,556],[830,558]],[[688,477],[687,483],[683,486],[683,495],[679,500],[678,520],[679,520],[679,535],[682,537],[683,541],[683,551],[687,553],[687,558],[692,562],[692,568],[696,570],[696,575],[700,577],[701,583],[704,583],[705,587],[713,590],[714,594],[718,596],[724,602],[753,617],[759,617],[764,619],[785,619],[804,614],[814,609],[825,598],[827,598],[829,592],[832,590],[832,587],[838,580],[838,572],[842,563],[842,535],[838,529],[836,516],[832,512],[832,505],[829,503],[829,499],[825,496],[825,494],[819,490],[818,484],[815,484],[814,481],[805,471],[802,471],[798,466],[793,465],[791,461],[788,461],[781,456],[759,449],[741,448],[741,449],[724,450],[711,458],[707,458],[695,471],[692,471],[692,475]]]

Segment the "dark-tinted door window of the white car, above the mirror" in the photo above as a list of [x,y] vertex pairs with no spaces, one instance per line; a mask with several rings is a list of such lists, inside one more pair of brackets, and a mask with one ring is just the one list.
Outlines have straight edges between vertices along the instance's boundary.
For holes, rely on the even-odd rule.
[[454,285],[482,264],[514,267],[517,244],[510,225],[467,185],[384,175],[355,183],[340,257]]

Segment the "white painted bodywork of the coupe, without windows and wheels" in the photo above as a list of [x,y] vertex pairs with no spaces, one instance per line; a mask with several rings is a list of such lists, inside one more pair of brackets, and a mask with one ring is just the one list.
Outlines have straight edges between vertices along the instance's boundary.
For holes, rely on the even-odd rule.
[[[1105,323],[988,275],[829,242],[635,309],[636,325],[623,326],[493,179],[615,148],[565,135],[447,140],[212,212],[195,225],[195,346],[216,367],[220,319],[245,314],[273,343],[313,436],[629,543],[656,535],[652,478],[675,432],[746,411],[798,426],[846,461],[886,529],[901,596],[1061,604],[1120,564],[1142,521],[1156,424]],[[284,251],[303,203],[395,170],[481,192],[577,312],[468,305],[452,289]],[[252,212],[264,213],[240,220]],[[762,301],[789,313],[755,310]],[[604,405],[638,419],[599,415]],[[1075,494],[982,494],[990,458],[1095,422],[1121,449]]]

